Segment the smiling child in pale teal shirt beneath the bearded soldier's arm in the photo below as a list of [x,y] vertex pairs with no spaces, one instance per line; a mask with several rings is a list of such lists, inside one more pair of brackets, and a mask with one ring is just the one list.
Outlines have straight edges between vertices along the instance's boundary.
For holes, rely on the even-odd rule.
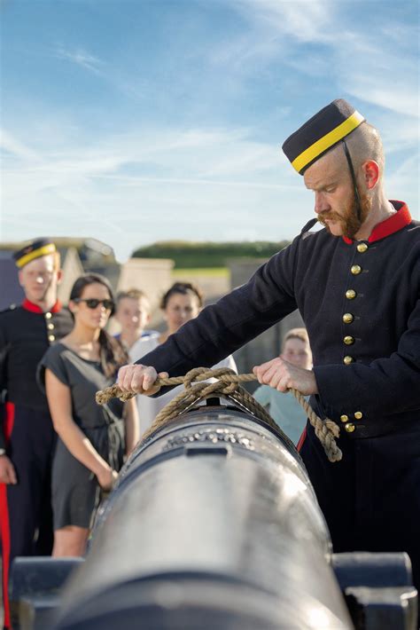
[[[292,330],[289,330],[284,336],[280,357],[292,363],[293,366],[307,370],[311,369],[312,352],[306,328],[292,328]],[[307,423],[307,414],[292,393],[287,392],[284,394],[284,392],[274,390],[268,385],[261,385],[254,392],[253,397],[262,406],[268,407],[268,413],[273,420],[290,437],[293,444],[297,445]]]

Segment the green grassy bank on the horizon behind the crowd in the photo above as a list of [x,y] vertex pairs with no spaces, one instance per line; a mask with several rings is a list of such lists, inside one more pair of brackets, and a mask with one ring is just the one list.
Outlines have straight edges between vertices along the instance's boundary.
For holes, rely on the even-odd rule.
[[288,240],[244,242],[193,242],[190,240],[167,240],[138,248],[134,258],[171,258],[175,269],[205,269],[225,267],[229,258],[269,258],[289,245]]

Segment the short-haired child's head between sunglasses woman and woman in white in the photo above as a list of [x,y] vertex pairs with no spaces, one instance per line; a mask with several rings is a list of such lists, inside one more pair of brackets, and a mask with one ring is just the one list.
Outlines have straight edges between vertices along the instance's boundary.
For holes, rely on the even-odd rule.
[[115,319],[121,326],[121,332],[115,337],[128,352],[139,339],[158,335],[156,330],[144,330],[151,320],[151,305],[140,289],[131,288],[117,295]]

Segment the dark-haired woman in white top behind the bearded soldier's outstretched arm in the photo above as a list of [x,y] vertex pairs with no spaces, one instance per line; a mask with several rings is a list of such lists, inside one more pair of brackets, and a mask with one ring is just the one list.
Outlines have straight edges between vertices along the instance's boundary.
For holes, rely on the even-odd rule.
[[[167,329],[161,335],[151,335],[150,337],[140,338],[129,350],[129,357],[132,361],[144,357],[145,354],[151,352],[160,343],[167,341],[169,335],[174,335],[182,326],[190,319],[198,317],[204,305],[204,296],[202,291],[191,282],[175,282],[170,287],[160,301],[160,309],[163,311],[163,317],[167,323]],[[234,358],[223,358],[214,367],[229,367],[237,371]],[[147,396],[136,396],[138,418],[140,421],[140,436],[144,434],[146,429],[152,425],[152,421],[167,403],[175,398],[182,390],[182,386],[175,387],[159,398],[149,398]]]

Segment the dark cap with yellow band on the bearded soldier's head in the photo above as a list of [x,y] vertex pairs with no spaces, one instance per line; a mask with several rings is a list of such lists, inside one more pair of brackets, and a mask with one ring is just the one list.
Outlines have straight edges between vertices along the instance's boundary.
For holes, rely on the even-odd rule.
[[311,164],[364,121],[362,114],[344,98],[333,100],[284,140],[284,154],[291,161],[293,169],[303,175]]

